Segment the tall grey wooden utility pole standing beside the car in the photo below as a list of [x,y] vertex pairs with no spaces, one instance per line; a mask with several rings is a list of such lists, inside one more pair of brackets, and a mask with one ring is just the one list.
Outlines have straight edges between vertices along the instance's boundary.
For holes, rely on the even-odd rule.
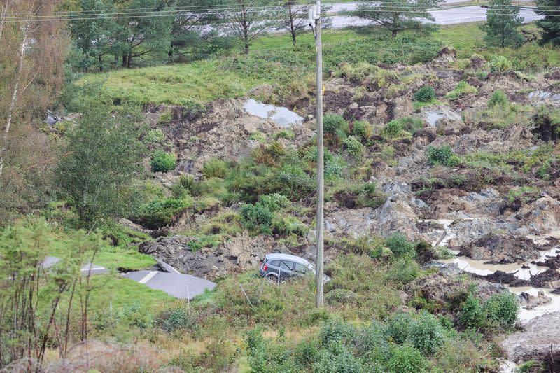
[[321,43],[321,1],[317,0],[314,8],[309,9],[309,24],[315,21],[315,45],[317,60],[317,253],[315,273],[315,306],[323,307],[323,205],[325,188],[323,181],[323,45]]

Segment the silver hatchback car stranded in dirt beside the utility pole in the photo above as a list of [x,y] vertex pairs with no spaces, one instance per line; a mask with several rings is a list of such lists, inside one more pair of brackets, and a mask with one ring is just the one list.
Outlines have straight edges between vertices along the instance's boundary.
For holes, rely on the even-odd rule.
[[[293,276],[315,275],[315,267],[309,260],[299,256],[271,253],[265,255],[259,273],[272,283],[287,280]],[[330,281],[330,277],[326,274],[324,279],[325,282]]]

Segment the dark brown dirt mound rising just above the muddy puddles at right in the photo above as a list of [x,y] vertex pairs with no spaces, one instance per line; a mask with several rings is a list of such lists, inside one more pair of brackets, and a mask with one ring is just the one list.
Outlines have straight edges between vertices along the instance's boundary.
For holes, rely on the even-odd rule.
[[536,258],[538,244],[526,237],[511,234],[489,233],[471,244],[460,248],[461,255],[474,260],[489,260],[492,263],[515,263]]

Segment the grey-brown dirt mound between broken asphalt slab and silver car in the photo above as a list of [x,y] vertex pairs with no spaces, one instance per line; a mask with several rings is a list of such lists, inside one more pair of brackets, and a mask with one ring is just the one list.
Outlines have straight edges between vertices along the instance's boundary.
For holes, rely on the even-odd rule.
[[139,251],[160,258],[185,274],[214,279],[258,268],[265,255],[275,246],[272,237],[251,238],[246,232],[218,248],[192,251],[188,247],[190,241],[193,241],[191,237],[179,234],[160,237],[139,245]]

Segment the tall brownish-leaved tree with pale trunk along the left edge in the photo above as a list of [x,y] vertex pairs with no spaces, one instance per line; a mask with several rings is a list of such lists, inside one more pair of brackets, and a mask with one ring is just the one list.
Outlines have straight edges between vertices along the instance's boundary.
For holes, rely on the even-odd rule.
[[[52,15],[58,0],[0,1],[0,225],[43,206],[50,155],[41,121],[64,83],[68,36]],[[10,21],[14,14],[25,17]]]

